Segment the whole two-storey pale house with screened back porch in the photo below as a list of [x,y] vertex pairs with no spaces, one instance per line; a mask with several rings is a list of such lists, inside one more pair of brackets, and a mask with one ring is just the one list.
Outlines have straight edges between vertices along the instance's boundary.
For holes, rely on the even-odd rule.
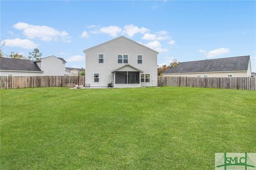
[[85,83],[91,87],[157,86],[157,54],[129,38],[118,37],[84,50]]

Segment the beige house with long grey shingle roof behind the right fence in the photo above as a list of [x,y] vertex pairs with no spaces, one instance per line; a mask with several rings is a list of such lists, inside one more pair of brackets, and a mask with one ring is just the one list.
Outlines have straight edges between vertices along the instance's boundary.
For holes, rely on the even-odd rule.
[[173,77],[251,77],[250,56],[181,62],[166,69],[163,76]]

